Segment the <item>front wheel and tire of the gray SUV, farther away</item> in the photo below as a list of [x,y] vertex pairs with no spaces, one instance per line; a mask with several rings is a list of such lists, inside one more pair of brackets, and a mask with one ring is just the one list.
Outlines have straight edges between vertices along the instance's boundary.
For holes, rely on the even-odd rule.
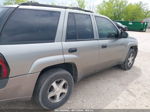
[[136,58],[137,51],[134,49],[130,49],[128,52],[128,55],[124,61],[124,63],[121,65],[121,68],[123,70],[130,70],[134,64],[135,58]]

